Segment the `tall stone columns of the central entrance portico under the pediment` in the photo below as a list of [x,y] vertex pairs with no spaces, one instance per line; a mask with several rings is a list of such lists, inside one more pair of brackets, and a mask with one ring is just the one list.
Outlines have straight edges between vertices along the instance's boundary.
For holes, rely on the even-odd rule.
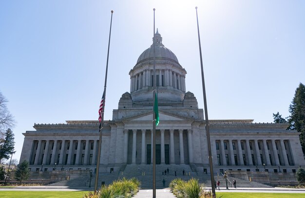
[[[132,149],[132,163],[135,164],[136,157],[136,133],[137,129],[133,129],[133,149]],[[141,164],[146,164],[146,131],[147,129],[142,129],[142,142],[141,142]],[[151,130],[148,130],[151,131]],[[169,129],[170,131],[170,163],[175,163],[175,155],[174,155],[174,129]],[[183,147],[183,129],[179,129],[179,148],[180,148],[180,164],[184,164],[184,147]],[[164,133],[165,129],[160,129],[161,132],[161,164],[165,163],[165,147],[164,147]],[[189,145],[189,160],[190,163],[193,163],[193,149],[192,149],[192,131],[191,129],[187,129],[188,132],[188,145]],[[129,130],[124,130],[124,162],[127,163],[128,160],[128,136]],[[151,131],[151,142],[153,139],[153,132]],[[151,152],[153,152],[153,145],[151,143]],[[151,153],[151,161],[152,161],[152,153]]]

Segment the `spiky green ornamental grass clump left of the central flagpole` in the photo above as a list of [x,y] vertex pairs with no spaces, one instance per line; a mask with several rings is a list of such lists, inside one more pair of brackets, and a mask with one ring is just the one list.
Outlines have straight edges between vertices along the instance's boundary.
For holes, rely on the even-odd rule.
[[97,192],[89,192],[84,198],[131,198],[139,191],[140,185],[137,178],[122,178],[108,186],[102,185]]

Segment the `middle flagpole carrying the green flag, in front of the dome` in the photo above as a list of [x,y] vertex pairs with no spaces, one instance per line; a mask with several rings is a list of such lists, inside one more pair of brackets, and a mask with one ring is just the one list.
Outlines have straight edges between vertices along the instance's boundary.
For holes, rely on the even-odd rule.
[[156,68],[155,68],[155,28],[154,28],[154,11],[153,8],[153,101],[152,101],[152,198],[156,197],[156,117],[154,113],[154,101],[156,93]]

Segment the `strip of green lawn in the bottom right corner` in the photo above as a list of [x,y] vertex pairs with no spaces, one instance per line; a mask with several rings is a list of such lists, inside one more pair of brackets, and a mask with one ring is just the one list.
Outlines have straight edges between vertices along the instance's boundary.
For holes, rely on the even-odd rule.
[[304,198],[303,193],[218,193],[216,198]]

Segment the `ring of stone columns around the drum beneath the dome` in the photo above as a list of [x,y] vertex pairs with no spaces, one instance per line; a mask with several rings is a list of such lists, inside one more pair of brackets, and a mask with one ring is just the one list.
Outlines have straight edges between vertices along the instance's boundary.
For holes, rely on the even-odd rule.
[[[131,77],[131,86],[130,91],[136,91],[142,89],[145,86],[152,86],[152,75],[153,72],[151,69],[145,69],[143,72],[140,72],[133,77]],[[180,75],[177,72],[172,71],[171,69],[157,69],[156,75],[159,75],[159,86],[162,86],[162,75],[164,76],[164,86],[171,86],[175,89],[185,91],[185,76]]]

